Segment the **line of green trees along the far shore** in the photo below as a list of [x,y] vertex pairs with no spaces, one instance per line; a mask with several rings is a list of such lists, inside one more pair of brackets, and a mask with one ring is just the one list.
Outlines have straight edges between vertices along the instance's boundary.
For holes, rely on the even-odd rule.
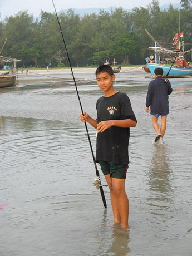
[[[145,29],[168,48],[174,48],[173,37],[180,29],[185,33],[185,50],[192,48],[191,1],[183,0],[179,10],[169,4],[160,9],[153,0],[146,8],[135,7],[130,12],[123,8],[100,10],[99,14],[83,17],[72,9],[58,13],[72,66],[101,65],[105,60],[117,65],[145,63],[147,47],[154,46]],[[34,18],[28,11],[0,21],[1,55],[22,60],[23,67],[63,67],[68,60],[55,13],[41,11]],[[191,56],[188,56],[191,58]],[[190,61],[190,60],[188,60]],[[21,64],[19,64],[21,65]]]

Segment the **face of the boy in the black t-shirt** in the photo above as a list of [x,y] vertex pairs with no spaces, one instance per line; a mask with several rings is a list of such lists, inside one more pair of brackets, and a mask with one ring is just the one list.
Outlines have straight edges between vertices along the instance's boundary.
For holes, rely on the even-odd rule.
[[101,72],[96,75],[97,85],[103,92],[114,90],[113,82],[115,75],[110,76],[107,72]]

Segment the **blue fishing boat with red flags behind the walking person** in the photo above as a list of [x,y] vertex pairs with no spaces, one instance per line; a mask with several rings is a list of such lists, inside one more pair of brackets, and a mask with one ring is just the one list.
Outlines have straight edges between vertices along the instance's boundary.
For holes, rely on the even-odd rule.
[[[146,29],[145,29],[146,30]],[[146,67],[149,68],[152,77],[154,77],[155,68],[160,67],[164,71],[164,77],[191,77],[192,76],[192,66],[185,60],[184,55],[186,53],[192,52],[192,49],[188,51],[184,51],[184,33],[176,33],[173,40],[173,45],[176,45],[175,50],[168,50],[161,46],[146,30],[147,34],[150,38],[155,42],[155,47],[149,47],[155,51],[154,63],[146,63]],[[164,53],[168,56],[168,58],[161,62],[157,61],[157,52]],[[172,57],[171,55],[176,55]],[[174,63],[176,62],[176,65]],[[171,63],[171,64],[169,64]]]

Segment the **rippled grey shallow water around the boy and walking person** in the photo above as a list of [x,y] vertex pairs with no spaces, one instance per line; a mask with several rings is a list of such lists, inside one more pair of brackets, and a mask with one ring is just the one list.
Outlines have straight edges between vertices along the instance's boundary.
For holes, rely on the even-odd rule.
[[[83,109],[95,117],[102,93],[93,79],[77,74]],[[1,255],[192,254],[192,78],[170,80],[168,125],[157,145],[145,113],[150,80],[144,71],[116,75],[116,89],[129,95],[138,121],[126,180],[129,230],[113,225],[108,189],[104,209],[92,185],[95,167],[73,84],[1,89]],[[95,150],[95,130],[88,129]]]

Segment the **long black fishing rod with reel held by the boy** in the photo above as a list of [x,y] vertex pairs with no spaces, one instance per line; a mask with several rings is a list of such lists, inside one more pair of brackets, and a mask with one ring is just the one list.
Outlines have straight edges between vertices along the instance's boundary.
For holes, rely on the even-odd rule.
[[[63,32],[62,32],[62,29],[61,29],[61,24],[60,24],[60,21],[58,19],[57,11],[56,11],[55,4],[54,4],[53,0],[52,0],[52,3],[53,3],[53,7],[55,9],[55,14],[56,14],[56,17],[57,17],[58,26],[60,27],[60,32],[61,32],[63,44],[65,46],[65,52],[67,54],[68,63],[69,63],[70,68],[71,68],[71,74],[72,74],[72,77],[73,77],[73,82],[75,84],[75,88],[76,88],[76,92],[77,92],[77,97],[78,97],[78,102],[80,104],[81,112],[82,112],[82,115],[83,115],[83,108],[82,108],[82,104],[81,104],[81,100],[80,100],[80,95],[79,95],[78,90],[77,90],[77,85],[76,85],[76,81],[75,81],[75,76],[73,74],[70,57],[68,55],[65,39],[64,39]],[[86,122],[84,124],[85,124],[85,129],[86,129],[86,132],[87,132],[88,142],[90,144],[90,149],[91,149],[91,154],[92,154],[92,158],[93,158],[93,163],[94,163],[94,166],[95,166],[96,175],[97,175],[97,177],[93,181],[93,185],[96,186],[97,189],[100,189],[100,193],[101,193],[102,201],[103,201],[103,204],[104,204],[104,208],[107,208],[107,204],[106,204],[106,200],[105,200],[105,195],[104,195],[104,190],[102,188],[102,186],[107,186],[107,185],[102,185],[101,184],[100,175],[99,175],[99,171],[97,169],[97,165],[96,165],[96,161],[95,161],[95,156],[94,156],[93,149],[92,149],[91,139],[90,139],[90,135],[88,133],[87,124],[86,124]]]

